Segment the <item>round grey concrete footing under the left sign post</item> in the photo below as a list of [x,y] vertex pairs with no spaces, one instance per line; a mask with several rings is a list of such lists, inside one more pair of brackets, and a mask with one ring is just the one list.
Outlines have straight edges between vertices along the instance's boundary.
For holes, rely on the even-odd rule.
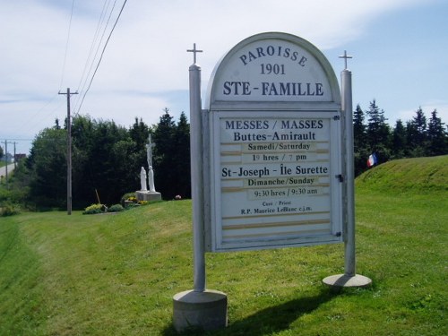
[[186,290],[173,297],[173,324],[177,332],[204,331],[227,326],[227,295],[217,290]]

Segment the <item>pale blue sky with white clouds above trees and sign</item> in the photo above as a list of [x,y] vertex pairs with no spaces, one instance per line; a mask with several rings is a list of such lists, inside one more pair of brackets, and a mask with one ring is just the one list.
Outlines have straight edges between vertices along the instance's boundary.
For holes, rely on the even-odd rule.
[[[70,34],[68,34],[73,4]],[[39,131],[66,116],[59,90],[79,90],[73,113],[130,126],[157,124],[163,108],[188,116],[187,48],[196,43],[206,92],[213,67],[242,39],[282,31],[307,39],[340,77],[344,50],[353,73],[353,103],[383,108],[388,122],[436,108],[448,123],[448,1],[445,0],[129,0],[98,73],[90,54],[97,27],[107,37],[123,1],[0,0],[0,142],[28,153]],[[101,9],[108,8],[100,21]],[[108,15],[109,25],[105,28]],[[67,43],[68,41],[68,43]],[[65,56],[65,49],[67,50]],[[85,71],[84,71],[85,70]],[[202,101],[205,97],[202,97]],[[8,144],[8,150],[13,145]]]

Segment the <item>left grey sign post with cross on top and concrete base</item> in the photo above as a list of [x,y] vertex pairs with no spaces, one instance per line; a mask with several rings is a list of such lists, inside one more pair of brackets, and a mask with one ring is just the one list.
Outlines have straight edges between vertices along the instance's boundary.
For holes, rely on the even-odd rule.
[[227,326],[227,295],[205,287],[204,206],[202,178],[201,67],[190,66],[190,157],[193,200],[194,289],[173,297],[173,324],[177,332],[190,327],[213,330]]

